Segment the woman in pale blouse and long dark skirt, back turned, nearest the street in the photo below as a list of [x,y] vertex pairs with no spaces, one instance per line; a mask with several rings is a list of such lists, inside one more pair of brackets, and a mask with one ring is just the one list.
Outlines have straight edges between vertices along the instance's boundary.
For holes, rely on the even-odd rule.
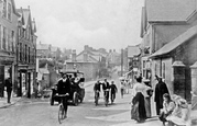
[[[145,100],[147,87],[142,83],[142,77],[136,77],[136,83],[133,87],[133,99],[131,108],[131,118],[139,123],[143,123],[146,119]],[[135,111],[133,111],[135,110]],[[135,113],[134,113],[135,112]]]

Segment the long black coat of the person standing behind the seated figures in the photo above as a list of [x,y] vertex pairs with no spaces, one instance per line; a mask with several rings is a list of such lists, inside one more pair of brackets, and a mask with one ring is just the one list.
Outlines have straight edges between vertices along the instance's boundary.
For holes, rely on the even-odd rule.
[[169,93],[167,85],[165,84],[165,82],[158,82],[155,87],[155,96],[154,96],[154,101],[156,102],[156,104],[160,105],[160,108],[163,107],[163,95],[165,93]]

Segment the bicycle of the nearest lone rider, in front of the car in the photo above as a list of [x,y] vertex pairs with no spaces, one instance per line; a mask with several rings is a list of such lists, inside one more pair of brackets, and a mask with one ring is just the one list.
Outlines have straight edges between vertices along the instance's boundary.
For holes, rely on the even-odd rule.
[[58,98],[61,98],[59,108],[58,108],[58,123],[62,124],[62,122],[66,118],[66,113],[63,105],[63,98],[68,96],[68,94],[58,94]]

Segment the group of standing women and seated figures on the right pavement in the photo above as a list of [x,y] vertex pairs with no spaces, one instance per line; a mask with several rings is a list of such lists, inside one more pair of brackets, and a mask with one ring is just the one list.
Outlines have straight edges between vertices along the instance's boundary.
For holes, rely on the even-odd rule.
[[[156,114],[160,121],[165,126],[186,125],[190,126],[189,107],[187,101],[179,95],[169,95],[166,83],[162,78],[155,76],[157,84],[154,90],[154,102],[156,103]],[[150,98],[153,94],[153,89],[142,77],[136,78],[136,83],[133,87],[133,99],[131,108],[131,118],[139,123],[145,122],[151,117]]]

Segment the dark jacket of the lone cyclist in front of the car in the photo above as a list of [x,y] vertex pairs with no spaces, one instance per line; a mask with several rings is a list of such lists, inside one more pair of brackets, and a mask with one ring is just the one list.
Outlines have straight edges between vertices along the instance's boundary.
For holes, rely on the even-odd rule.
[[70,82],[69,82],[69,79],[66,79],[65,82],[63,82],[63,80],[58,81],[58,83],[57,83],[57,93],[58,94],[70,93]]

